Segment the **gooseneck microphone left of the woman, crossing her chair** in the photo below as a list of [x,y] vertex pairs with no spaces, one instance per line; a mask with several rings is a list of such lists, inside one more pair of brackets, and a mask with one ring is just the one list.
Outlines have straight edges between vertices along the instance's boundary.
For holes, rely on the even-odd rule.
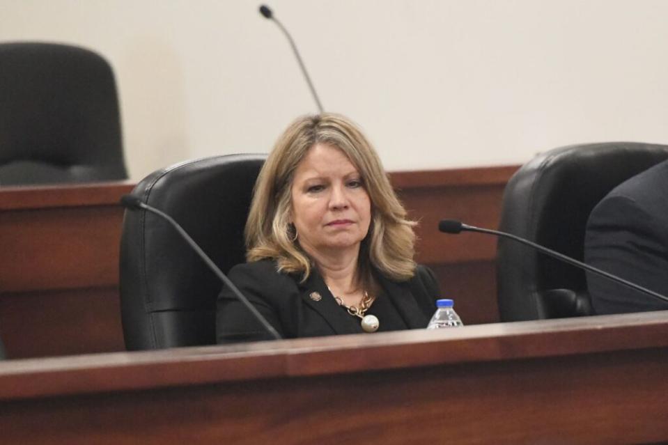
[[204,253],[204,251],[199,247],[199,245],[194,242],[194,240],[188,235],[188,233],[183,230],[183,228],[178,224],[178,222],[174,221],[172,217],[169,216],[169,214],[166,214],[162,212],[161,210],[157,210],[155,207],[151,207],[148,204],[145,204],[141,202],[140,198],[137,198],[137,196],[134,195],[124,195],[121,197],[121,205],[123,207],[127,208],[128,210],[139,210],[139,209],[144,209],[148,210],[148,212],[151,212],[153,214],[157,214],[157,216],[161,217],[165,221],[169,222],[173,228],[176,229],[176,231],[181,235],[181,237],[189,244],[190,247],[194,251],[196,251],[197,255],[199,255],[200,258],[208,265],[209,269],[212,270],[214,274],[223,282],[225,283],[234,293],[234,295],[239,299],[244,306],[247,307],[249,311],[255,316],[255,318],[258,319],[259,322],[263,325],[263,327],[269,332],[272,337],[274,337],[277,340],[281,339],[281,336],[279,333],[274,329],[272,325],[270,325],[267,320],[262,316],[261,313],[258,312],[257,309],[255,309],[255,306],[251,304],[251,302],[248,301],[246,297],[240,292],[240,290],[237,288],[237,286],[234,286],[234,283],[230,281],[230,279],[227,278],[227,276],[222,272],[222,270],[219,269],[219,267],[214,263],[209,256]]

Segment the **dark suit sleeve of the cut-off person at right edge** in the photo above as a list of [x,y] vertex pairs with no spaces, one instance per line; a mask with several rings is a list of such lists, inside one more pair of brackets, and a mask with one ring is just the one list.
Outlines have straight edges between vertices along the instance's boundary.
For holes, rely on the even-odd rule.
[[[587,264],[668,295],[668,228],[626,196],[604,198],[591,212],[585,237]],[[603,277],[587,274],[596,313],[668,309],[668,303]]]

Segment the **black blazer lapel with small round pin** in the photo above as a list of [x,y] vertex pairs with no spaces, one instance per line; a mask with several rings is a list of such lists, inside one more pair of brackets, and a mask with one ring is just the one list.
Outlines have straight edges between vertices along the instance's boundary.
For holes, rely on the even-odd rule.
[[[355,324],[350,322],[352,315],[346,313],[339,306],[339,303],[334,299],[334,295],[329,292],[325,281],[316,270],[311,272],[309,279],[298,284],[298,286],[302,300],[322,315],[325,322],[334,329],[336,334],[357,334],[359,332],[355,330]],[[318,299],[318,295],[320,299]]]

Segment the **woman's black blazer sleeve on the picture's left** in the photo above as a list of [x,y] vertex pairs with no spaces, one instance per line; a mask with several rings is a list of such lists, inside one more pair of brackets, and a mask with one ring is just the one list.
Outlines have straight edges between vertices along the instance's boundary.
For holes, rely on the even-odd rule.
[[[237,265],[229,272],[229,279],[249,299],[255,309],[284,336],[277,309],[272,299],[284,290],[285,277],[273,270],[272,263],[257,262]],[[272,340],[249,309],[227,286],[218,296],[216,312],[217,343]]]

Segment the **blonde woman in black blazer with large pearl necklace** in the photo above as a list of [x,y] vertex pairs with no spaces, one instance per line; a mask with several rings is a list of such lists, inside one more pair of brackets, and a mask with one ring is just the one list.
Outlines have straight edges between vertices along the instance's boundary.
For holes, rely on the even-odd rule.
[[[229,278],[283,338],[424,328],[440,292],[413,260],[414,224],[355,124],[305,116],[258,176],[247,263]],[[270,338],[224,288],[218,343]]]

